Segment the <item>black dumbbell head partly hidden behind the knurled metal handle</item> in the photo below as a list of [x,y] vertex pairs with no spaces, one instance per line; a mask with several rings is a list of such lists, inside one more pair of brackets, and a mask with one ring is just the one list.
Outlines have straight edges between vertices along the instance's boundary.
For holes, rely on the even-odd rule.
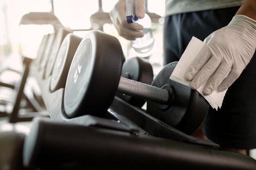
[[[121,77],[132,79],[145,84],[151,84],[154,75],[152,66],[147,60],[141,57],[132,57],[124,63]],[[146,102],[146,100],[138,99],[129,95],[123,95],[120,93],[117,93],[117,96],[137,107],[142,107]]]

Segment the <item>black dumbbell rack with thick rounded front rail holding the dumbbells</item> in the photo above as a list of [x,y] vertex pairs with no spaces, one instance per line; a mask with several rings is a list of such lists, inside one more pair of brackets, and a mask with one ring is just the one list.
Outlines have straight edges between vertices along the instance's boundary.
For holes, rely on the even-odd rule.
[[115,97],[103,117],[69,119],[64,88],[51,93],[51,76],[38,84],[51,120],[34,119],[25,140],[24,164],[47,169],[254,169],[254,159],[220,150],[206,139],[186,135]]

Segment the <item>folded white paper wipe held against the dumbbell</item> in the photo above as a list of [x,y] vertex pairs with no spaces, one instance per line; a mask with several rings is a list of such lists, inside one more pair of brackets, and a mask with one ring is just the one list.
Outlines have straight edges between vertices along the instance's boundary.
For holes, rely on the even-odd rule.
[[[196,56],[204,46],[204,42],[193,37],[190,40],[189,45],[186,47],[186,50],[182,54],[180,61],[177,63],[177,66],[175,67],[170,79],[190,87],[191,81],[188,81],[185,78],[186,70],[189,68],[190,64],[195,60]],[[202,84],[202,86],[200,86],[197,91],[209,102],[212,108],[217,110],[218,107],[220,108],[222,106],[222,101],[227,90],[223,92],[218,92],[215,90],[213,93],[211,93],[211,95],[206,96],[202,93],[205,84],[206,83]]]

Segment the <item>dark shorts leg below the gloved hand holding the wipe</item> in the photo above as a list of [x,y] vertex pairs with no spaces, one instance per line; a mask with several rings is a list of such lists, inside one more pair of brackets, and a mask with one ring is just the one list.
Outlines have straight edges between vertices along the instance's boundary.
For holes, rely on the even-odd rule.
[[256,148],[256,53],[232,84],[218,111],[210,108],[204,134],[224,148]]

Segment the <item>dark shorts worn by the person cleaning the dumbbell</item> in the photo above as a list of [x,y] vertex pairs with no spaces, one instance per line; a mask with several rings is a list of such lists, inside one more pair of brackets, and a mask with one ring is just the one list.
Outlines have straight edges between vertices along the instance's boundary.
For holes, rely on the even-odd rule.
[[[165,18],[164,64],[178,61],[192,36],[204,40],[226,26],[239,7],[182,13]],[[218,111],[209,108],[204,134],[222,147],[256,148],[256,53],[229,87]]]

